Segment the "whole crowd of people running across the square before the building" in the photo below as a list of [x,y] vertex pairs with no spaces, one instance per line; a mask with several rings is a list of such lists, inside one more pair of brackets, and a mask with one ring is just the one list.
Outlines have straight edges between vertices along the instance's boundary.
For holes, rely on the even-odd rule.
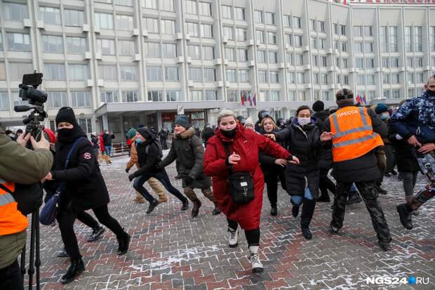
[[[428,79],[421,96],[404,101],[394,111],[382,103],[355,104],[354,93],[346,88],[337,91],[335,96],[336,109],[325,109],[323,102],[316,101],[312,107],[297,108],[295,116],[288,121],[282,118],[275,121],[265,110],[259,112],[256,122],[251,117],[245,119],[230,110],[222,110],[217,115],[215,128],[206,124],[202,135],[192,128],[187,117],[178,116],[166,157],[163,156],[167,148],[166,130],[156,133],[143,125],[131,128],[126,134],[130,140],[130,158],[125,171],[136,191],[135,202],[147,202],[146,212],[152,213],[156,206],[167,202],[167,190],[180,201],[180,211],[187,211],[189,200],[192,202],[194,218],[202,204],[195,190],[201,190],[213,204],[212,214],[217,216],[222,212],[227,218],[229,247],[239,245],[239,232],[244,231],[253,272],[263,271],[259,253],[265,187],[271,216],[279,214],[279,185],[290,195],[292,214],[297,217],[300,213],[300,231],[305,239],[313,237],[309,226],[317,202],[330,202],[332,194],[330,232],[333,234],[343,226],[346,206],[365,202],[379,245],[388,251],[391,233],[377,200],[378,195],[387,194],[381,187],[384,176],[396,175],[397,167],[405,192],[397,211],[408,230],[413,228],[413,213],[435,194],[435,76]],[[33,158],[43,159],[44,164],[51,166],[45,172],[42,171],[46,165],[44,170],[39,168],[38,174],[34,173],[34,178],[26,182],[39,178],[48,197],[60,191],[56,219],[65,249],[58,256],[69,257],[71,261],[62,276],[62,283],[66,284],[84,270],[74,220],[92,229],[89,242],[105,232],[102,225],[109,228],[116,236],[119,255],[128,251],[131,233],[109,214],[109,193],[98,165],[99,151],[103,152],[102,156],[110,156],[114,135],[109,131],[100,136],[94,133],[90,142],[69,107],[61,108],[55,121],[56,133],[45,129],[45,138],[39,143],[29,134],[10,131],[5,135],[0,131],[0,149],[16,143],[11,150],[23,151],[23,146],[31,140],[36,150],[26,151],[26,154],[34,154]],[[51,154],[47,155],[46,150]],[[173,162],[178,172],[176,178],[182,180],[182,192],[166,173],[166,166]],[[4,182],[9,186],[6,190],[13,188],[13,182],[20,182],[18,176],[10,174],[11,166],[13,164],[1,158],[0,178],[8,180]],[[137,170],[131,173],[133,166]],[[419,171],[427,176],[429,184],[414,195]],[[152,193],[144,183],[149,183]],[[6,197],[8,192],[2,188],[0,197]],[[2,200],[6,199],[0,202]],[[0,211],[0,244],[5,240],[4,235],[20,235],[21,242],[15,243],[15,248],[22,248],[22,232],[25,232],[27,220],[15,212],[16,203],[15,208],[7,202],[0,206],[9,206],[8,211],[15,214],[11,220]],[[86,213],[90,209],[98,221]],[[2,220],[9,220],[13,225],[5,230]],[[10,272],[17,270],[18,251],[12,253],[17,254],[10,255],[6,263],[1,260],[0,268],[6,267]],[[11,275],[11,279],[19,278]],[[18,289],[11,288],[16,280],[11,283],[15,284],[4,284],[5,289]]]

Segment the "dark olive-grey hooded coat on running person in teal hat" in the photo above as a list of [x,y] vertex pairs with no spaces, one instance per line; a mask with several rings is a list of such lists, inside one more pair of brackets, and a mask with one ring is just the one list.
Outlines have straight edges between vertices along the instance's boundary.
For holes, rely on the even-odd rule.
[[[168,166],[177,159],[179,164],[177,171],[183,177],[182,187],[206,189],[211,186],[211,178],[203,173],[203,157],[202,140],[195,135],[195,129],[191,127],[175,136],[168,156],[159,163],[159,167]],[[186,185],[187,176],[194,179],[192,185]]]

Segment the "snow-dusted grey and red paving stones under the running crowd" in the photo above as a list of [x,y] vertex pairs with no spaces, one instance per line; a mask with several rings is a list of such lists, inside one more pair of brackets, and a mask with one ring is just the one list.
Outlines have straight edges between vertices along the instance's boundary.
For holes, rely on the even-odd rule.
[[[79,222],[75,231],[86,271],[74,282],[61,285],[68,266],[55,252],[62,249],[58,227],[41,226],[41,289],[435,289],[435,201],[413,216],[414,229],[405,230],[396,213],[404,193],[395,176],[385,178],[389,194],[380,197],[393,249],[380,250],[363,204],[346,209],[344,228],[330,235],[330,203],[319,203],[312,221],[313,239],[300,234],[300,218],[291,216],[290,198],[279,190],[279,215],[269,215],[265,193],[261,217],[261,255],[265,272],[250,272],[244,235],[235,249],[227,246],[223,214],[212,216],[213,204],[201,197],[199,216],[180,212],[178,199],[169,200],[147,215],[147,204],[134,204],[134,190],[123,171],[126,157],[101,165],[111,202],[109,211],[132,235],[125,256],[116,255],[116,238],[107,230],[98,242],[88,243],[91,230]],[[175,180],[175,164],[167,168]],[[420,176],[417,188],[424,185]],[[199,192],[199,196],[201,192]],[[191,204],[192,208],[192,204]],[[410,276],[429,284],[373,285],[366,277]]]

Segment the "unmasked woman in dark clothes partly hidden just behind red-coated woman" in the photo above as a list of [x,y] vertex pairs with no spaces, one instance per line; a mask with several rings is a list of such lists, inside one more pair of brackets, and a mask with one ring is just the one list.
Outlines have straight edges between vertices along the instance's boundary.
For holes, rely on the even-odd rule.
[[[271,134],[279,132],[278,126],[272,117],[263,117],[260,123],[261,132],[263,134]],[[286,148],[283,143],[279,143],[281,147]],[[287,148],[286,148],[287,149]],[[267,187],[267,197],[270,202],[270,215],[276,216],[278,209],[276,203],[278,202],[278,180],[281,181],[281,186],[286,190],[286,159],[279,159],[271,157],[263,152],[258,153],[258,161],[260,162],[261,170],[265,176],[265,183]]]

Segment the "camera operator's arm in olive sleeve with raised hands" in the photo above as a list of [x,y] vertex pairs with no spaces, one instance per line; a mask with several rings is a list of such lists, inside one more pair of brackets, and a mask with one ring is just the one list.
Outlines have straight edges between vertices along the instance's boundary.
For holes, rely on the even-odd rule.
[[[28,138],[28,137],[26,137]],[[53,154],[47,140],[30,138],[34,150],[29,150],[5,135],[0,128],[0,178],[15,183],[32,184],[44,178],[53,164]]]

